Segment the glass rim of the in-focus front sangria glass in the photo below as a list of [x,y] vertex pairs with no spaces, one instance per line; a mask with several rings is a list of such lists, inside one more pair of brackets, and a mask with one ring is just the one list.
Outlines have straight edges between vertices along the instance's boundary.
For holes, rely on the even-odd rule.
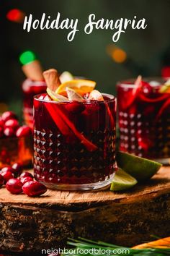
[[[40,94],[35,95],[34,96],[34,100],[35,101],[40,101],[40,102],[45,102],[45,103],[54,103],[54,104],[68,104],[68,103],[74,102],[74,101],[62,101],[62,102],[61,101],[60,102],[58,102],[58,101],[47,101],[47,100],[43,100],[43,99],[37,98],[40,95],[45,95],[45,94],[48,95],[47,93],[40,93]],[[107,96],[108,99],[104,100],[104,101],[97,101],[99,104],[114,102],[114,101],[117,100],[117,98],[114,95],[112,95],[112,94],[102,93],[102,95]],[[89,105],[89,104],[93,103],[93,101],[91,101],[91,100],[83,101],[83,102],[82,101],[78,101],[78,102],[81,103],[81,104],[84,104],[84,105]],[[96,101],[94,103],[96,103]]]

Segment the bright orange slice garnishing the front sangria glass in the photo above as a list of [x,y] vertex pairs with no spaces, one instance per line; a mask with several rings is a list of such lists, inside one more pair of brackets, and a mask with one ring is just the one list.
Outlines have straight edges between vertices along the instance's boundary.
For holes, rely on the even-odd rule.
[[76,90],[76,93],[79,93],[80,95],[84,95],[85,93],[90,93],[91,90],[94,90],[96,86],[96,82],[91,80],[71,80],[64,82],[61,84],[55,93],[61,94],[61,95],[67,95],[66,88],[71,88],[73,90]]

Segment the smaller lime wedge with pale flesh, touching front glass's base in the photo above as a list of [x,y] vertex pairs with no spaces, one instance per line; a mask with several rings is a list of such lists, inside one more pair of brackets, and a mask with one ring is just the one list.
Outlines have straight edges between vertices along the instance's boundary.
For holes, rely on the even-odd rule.
[[118,169],[118,171],[115,174],[115,177],[113,178],[110,190],[121,191],[130,189],[137,183],[137,180],[133,178],[133,176],[130,176],[130,174],[127,174],[125,171]]

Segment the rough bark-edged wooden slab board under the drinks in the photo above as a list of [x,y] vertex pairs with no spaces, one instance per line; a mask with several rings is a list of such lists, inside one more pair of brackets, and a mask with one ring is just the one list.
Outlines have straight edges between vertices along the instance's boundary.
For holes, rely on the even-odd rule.
[[82,236],[132,246],[170,234],[170,167],[128,192],[61,192],[41,197],[0,189],[0,248],[40,252]]

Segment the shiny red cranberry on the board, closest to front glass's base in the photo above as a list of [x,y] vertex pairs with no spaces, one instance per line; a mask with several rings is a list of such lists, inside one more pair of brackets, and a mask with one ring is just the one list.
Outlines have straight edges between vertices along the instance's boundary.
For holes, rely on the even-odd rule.
[[25,183],[22,189],[24,194],[28,195],[29,197],[42,195],[47,191],[45,185],[35,181]]

